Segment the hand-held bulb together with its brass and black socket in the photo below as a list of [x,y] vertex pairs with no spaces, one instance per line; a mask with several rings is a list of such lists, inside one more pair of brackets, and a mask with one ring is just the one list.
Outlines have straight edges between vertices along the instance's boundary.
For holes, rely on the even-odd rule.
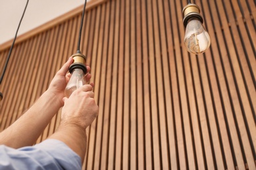
[[70,65],[69,69],[71,77],[65,89],[66,97],[70,97],[77,88],[86,84],[85,73],[87,72],[87,69],[85,66],[85,56],[83,56],[83,54],[76,53],[72,55],[72,58],[74,59],[74,63]]

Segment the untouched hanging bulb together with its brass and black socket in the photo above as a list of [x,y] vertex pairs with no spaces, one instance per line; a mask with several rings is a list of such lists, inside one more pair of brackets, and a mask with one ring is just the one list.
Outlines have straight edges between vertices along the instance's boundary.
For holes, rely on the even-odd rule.
[[203,18],[200,15],[200,9],[198,5],[189,3],[182,12],[183,24],[186,27],[184,35],[186,49],[193,54],[202,54],[209,48],[211,39],[202,25]]

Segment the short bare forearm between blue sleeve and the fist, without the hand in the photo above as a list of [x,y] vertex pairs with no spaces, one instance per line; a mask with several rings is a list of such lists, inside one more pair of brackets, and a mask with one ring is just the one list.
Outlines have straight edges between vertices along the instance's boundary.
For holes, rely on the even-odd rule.
[[64,142],[80,156],[83,163],[87,146],[87,136],[83,127],[77,124],[61,123],[58,130],[49,139],[57,139]]

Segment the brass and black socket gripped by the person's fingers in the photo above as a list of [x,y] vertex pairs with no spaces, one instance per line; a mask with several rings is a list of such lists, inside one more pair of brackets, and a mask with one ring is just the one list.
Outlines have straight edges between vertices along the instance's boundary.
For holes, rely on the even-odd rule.
[[74,69],[82,69],[83,73],[86,74],[87,69],[85,66],[85,56],[83,56],[83,54],[80,54],[80,53],[75,53],[72,55],[72,58],[74,59],[74,63],[70,65],[70,68],[69,68],[70,73],[72,73]]

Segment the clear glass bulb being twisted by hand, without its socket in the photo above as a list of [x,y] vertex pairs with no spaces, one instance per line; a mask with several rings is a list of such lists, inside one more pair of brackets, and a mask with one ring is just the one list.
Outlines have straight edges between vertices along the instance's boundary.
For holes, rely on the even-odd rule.
[[66,97],[70,97],[70,95],[75,90],[77,90],[77,88],[80,88],[84,84],[86,84],[85,73],[83,73],[82,69],[74,69],[74,71],[72,71],[70,80],[68,81],[68,84],[65,89]]

